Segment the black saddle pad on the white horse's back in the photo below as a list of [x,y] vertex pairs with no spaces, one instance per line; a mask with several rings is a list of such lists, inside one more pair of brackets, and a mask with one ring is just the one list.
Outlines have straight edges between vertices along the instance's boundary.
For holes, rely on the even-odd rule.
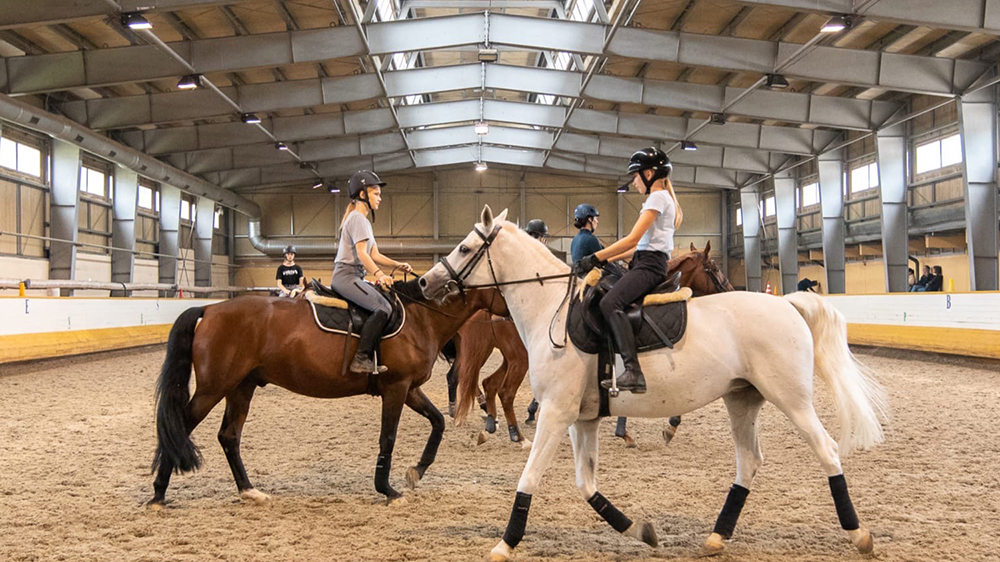
[[[654,292],[676,291],[678,278],[679,276],[676,274],[671,276],[667,283],[658,286]],[[575,297],[572,299],[569,305],[566,328],[573,345],[580,351],[598,353],[602,346],[610,345],[610,330],[605,325],[598,305],[601,297],[614,286],[617,280],[617,277],[605,276],[596,286],[587,287],[582,299]],[[687,328],[686,301],[651,306],[633,304],[626,309],[626,314],[632,324],[636,348],[639,352],[673,347],[684,337],[684,331]]]

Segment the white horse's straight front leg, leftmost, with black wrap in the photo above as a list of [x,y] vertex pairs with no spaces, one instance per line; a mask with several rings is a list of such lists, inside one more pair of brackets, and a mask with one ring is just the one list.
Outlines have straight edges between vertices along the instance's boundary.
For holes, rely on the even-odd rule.
[[[574,400],[575,399],[575,400]],[[535,432],[535,443],[528,455],[528,462],[521,472],[517,483],[517,495],[514,507],[507,521],[507,530],[503,538],[490,551],[490,560],[502,562],[513,556],[514,547],[524,537],[524,528],[528,522],[528,508],[531,506],[531,494],[538,488],[545,470],[552,464],[559,449],[561,437],[579,415],[579,396],[560,396],[560,403],[542,399],[542,410],[538,416],[538,430]],[[575,407],[574,407],[575,406]]]

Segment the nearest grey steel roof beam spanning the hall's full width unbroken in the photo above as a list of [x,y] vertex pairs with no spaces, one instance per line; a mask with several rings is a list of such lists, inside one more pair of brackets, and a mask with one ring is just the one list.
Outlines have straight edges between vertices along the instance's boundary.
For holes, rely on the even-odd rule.
[[[476,48],[486,41],[483,19],[483,14],[459,14],[372,23],[364,29],[370,54],[386,56]],[[801,48],[776,41],[625,27],[616,30],[605,50],[611,26],[600,23],[496,13],[490,14],[489,22],[491,45],[576,56],[614,55],[733,72],[772,72],[776,60],[785,60]],[[649,45],[657,48],[650,49]],[[180,41],[170,48],[199,73],[238,72],[366,54],[358,30],[347,26]],[[149,81],[190,72],[148,45],[14,57],[4,62],[9,76],[7,93],[16,94]],[[987,63],[979,61],[817,46],[782,72],[789,77],[862,88],[953,95],[967,88],[987,68]]]

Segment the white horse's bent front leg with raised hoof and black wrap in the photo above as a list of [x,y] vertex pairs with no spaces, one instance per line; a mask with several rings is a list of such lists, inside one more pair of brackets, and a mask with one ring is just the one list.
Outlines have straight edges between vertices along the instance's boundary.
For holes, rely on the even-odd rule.
[[578,421],[569,428],[576,460],[576,487],[583,499],[594,508],[611,527],[650,546],[656,546],[656,529],[652,523],[633,523],[624,513],[597,491],[597,427],[600,420]]

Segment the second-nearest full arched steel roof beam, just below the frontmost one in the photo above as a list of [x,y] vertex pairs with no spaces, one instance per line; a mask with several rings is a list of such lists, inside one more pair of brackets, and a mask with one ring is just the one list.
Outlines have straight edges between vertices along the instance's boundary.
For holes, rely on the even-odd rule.
[[[480,72],[478,64],[430,67],[387,72],[385,80],[390,97],[436,94],[480,88]],[[578,96],[582,78],[583,75],[579,72],[543,68],[498,64],[487,65],[486,68],[487,88],[555,96]],[[378,79],[371,74],[234,86],[221,90],[232,99],[239,99],[246,111],[261,112],[356,102],[382,96]],[[583,95],[618,103],[717,113],[722,111],[727,100],[742,92],[742,89],[725,86],[597,75]],[[73,101],[60,104],[59,107],[78,123],[96,129],[118,129],[233,114],[232,107],[220,101],[212,92],[206,91]],[[737,103],[729,112],[754,119],[775,119],[867,131],[878,128],[899,107],[899,104],[882,101],[757,91]]]

